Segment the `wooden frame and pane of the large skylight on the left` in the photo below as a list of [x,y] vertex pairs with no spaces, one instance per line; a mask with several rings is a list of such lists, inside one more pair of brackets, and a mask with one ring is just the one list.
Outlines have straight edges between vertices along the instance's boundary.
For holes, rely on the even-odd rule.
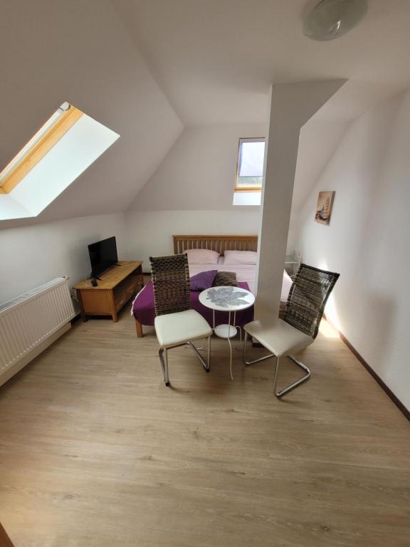
[[63,103],[0,172],[0,194],[9,194],[83,115]]

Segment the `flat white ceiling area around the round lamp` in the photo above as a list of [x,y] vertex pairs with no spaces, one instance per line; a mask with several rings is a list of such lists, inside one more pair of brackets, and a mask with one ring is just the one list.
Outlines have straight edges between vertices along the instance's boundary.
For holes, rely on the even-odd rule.
[[[354,87],[337,105],[336,115],[345,119],[363,111],[367,100],[372,104],[372,93],[379,100],[409,85],[409,0],[369,0],[364,21],[330,42],[301,31],[303,11],[317,1],[113,3],[185,125],[264,121],[270,83],[350,78],[359,95]],[[325,114],[335,115],[329,108]]]

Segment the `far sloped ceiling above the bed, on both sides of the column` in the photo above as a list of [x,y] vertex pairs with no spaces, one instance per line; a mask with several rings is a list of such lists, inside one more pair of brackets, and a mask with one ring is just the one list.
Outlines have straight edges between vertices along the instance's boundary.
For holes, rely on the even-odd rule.
[[[310,120],[300,132],[292,215],[297,216],[350,125]],[[266,136],[265,124],[186,127],[132,202],[137,211],[234,209],[233,180],[240,137]],[[293,222],[293,219],[292,221]]]

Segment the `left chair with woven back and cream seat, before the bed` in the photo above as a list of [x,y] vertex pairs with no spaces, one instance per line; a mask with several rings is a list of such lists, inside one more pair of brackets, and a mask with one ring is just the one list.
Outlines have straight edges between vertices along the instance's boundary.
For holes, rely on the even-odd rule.
[[[165,385],[169,385],[168,350],[188,344],[194,350],[207,373],[210,370],[211,334],[208,322],[191,310],[191,286],[186,254],[150,256],[156,318],[155,332],[159,341],[159,360]],[[204,359],[193,340],[208,339],[208,357]]]

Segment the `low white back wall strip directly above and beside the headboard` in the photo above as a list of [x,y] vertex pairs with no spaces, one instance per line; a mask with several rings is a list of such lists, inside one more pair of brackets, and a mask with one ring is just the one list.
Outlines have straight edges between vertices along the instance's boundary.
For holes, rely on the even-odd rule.
[[258,211],[157,211],[127,212],[130,259],[143,260],[149,271],[149,256],[174,254],[173,235],[257,235]]

